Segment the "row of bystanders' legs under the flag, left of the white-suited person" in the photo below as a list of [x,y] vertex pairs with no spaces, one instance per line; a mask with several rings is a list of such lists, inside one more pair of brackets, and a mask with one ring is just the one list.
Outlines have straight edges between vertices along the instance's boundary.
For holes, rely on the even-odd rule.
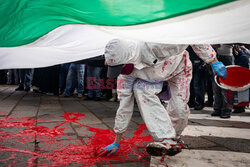
[[[107,82],[104,61],[104,55],[100,55],[50,67],[1,70],[0,79],[1,84],[18,85],[16,91],[32,90],[60,97],[116,101],[116,80]],[[106,88],[106,83],[110,87]]]

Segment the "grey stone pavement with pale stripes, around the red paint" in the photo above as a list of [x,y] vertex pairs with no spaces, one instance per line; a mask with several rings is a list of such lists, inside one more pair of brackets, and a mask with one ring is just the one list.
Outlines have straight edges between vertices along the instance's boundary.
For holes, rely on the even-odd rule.
[[[33,92],[15,92],[14,86],[0,85],[0,119],[8,118],[30,118],[35,120],[35,126],[53,128],[64,121],[65,112],[79,112],[86,115],[87,119],[78,120],[79,123],[91,127],[108,129],[114,124],[114,117],[118,103],[107,101],[84,101],[77,98],[59,98],[56,96],[39,95]],[[250,166],[250,110],[246,113],[233,114],[230,119],[220,119],[211,117],[212,108],[206,107],[202,111],[191,110],[189,125],[183,133],[184,141],[189,145],[189,149],[175,157],[148,157],[150,163],[111,162],[113,166]],[[37,120],[43,120],[37,121]],[[143,120],[137,108],[129,126],[129,132],[138,128]],[[11,132],[22,132],[24,127],[4,126],[0,121],[0,134],[8,131],[9,137],[0,138],[0,166],[28,166],[28,159],[32,158],[29,151],[43,150],[49,152],[53,149],[63,148],[69,144],[84,144],[86,136],[91,136],[91,132],[85,127],[71,123],[65,127],[64,136],[60,136],[60,144],[50,147],[41,143],[43,140],[39,136],[29,136],[29,142],[25,143],[11,138]],[[63,127],[62,126],[62,127]],[[15,132],[15,133],[14,133]],[[19,149],[18,154],[11,154],[13,150]],[[4,151],[3,151],[4,150]],[[23,150],[23,151],[20,151]],[[35,166],[42,166],[39,159],[35,159]],[[82,164],[71,164],[69,166],[81,166]],[[107,166],[97,164],[96,166]]]

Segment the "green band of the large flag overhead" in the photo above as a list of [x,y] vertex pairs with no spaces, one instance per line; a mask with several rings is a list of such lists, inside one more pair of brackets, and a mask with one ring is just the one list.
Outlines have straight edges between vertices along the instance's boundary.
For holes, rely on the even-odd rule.
[[128,26],[234,0],[1,0],[0,47],[29,44],[66,24]]

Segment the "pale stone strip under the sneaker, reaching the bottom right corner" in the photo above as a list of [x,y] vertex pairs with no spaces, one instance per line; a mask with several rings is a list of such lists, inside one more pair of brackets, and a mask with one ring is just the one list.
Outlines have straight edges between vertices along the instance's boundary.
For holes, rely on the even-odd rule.
[[247,153],[184,150],[174,157],[152,157],[150,167],[248,167],[250,156]]

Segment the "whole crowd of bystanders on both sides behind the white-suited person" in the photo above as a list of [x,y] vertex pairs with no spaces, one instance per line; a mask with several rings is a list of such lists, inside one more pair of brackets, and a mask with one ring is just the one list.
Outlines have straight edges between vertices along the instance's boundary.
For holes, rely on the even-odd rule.
[[[249,68],[250,51],[243,44],[212,45],[219,61],[225,66],[239,65]],[[230,118],[234,113],[245,112],[244,107],[230,106],[220,87],[214,82],[211,67],[197,56],[191,46],[186,49],[192,62],[192,80],[188,105],[194,110],[213,107],[212,116]],[[116,79],[107,78],[104,55],[95,58],[35,69],[2,70],[2,84],[18,85],[16,91],[30,91],[76,96],[84,100],[117,101]]]

